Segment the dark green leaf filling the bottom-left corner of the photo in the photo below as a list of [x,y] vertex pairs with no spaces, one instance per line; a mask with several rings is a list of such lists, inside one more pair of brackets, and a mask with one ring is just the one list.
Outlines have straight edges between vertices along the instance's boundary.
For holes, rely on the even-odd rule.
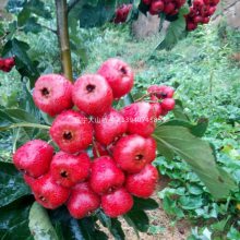
[[28,229],[28,213],[26,202],[0,208],[0,239],[34,240]]

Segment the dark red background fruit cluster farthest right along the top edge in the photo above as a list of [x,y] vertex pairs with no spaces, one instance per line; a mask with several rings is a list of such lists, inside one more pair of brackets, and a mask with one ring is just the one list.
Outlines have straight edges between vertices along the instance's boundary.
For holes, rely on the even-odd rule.
[[207,24],[218,3],[219,0],[194,0],[185,15],[187,29],[194,31],[199,24]]

